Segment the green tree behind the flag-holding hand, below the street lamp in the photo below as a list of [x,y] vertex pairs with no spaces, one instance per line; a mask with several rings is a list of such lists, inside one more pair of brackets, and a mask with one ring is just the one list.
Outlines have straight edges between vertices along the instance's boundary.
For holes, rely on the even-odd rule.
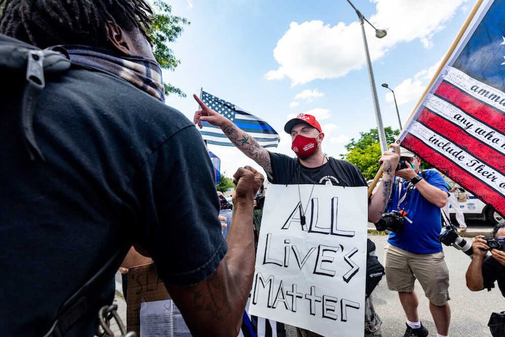
[[[400,133],[399,129],[393,130],[390,126],[385,127],[384,131],[388,144],[393,143]],[[366,179],[372,179],[379,171],[380,164],[378,160],[382,155],[377,128],[370,129],[368,132],[359,132],[359,135],[360,138],[357,141],[353,138],[345,146],[347,154],[340,156],[342,159],[356,165]]]

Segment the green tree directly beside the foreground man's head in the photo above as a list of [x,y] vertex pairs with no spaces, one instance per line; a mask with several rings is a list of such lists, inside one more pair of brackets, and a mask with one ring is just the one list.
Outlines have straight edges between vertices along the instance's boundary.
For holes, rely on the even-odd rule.
[[[172,7],[162,0],[156,0],[153,6],[153,24],[149,36],[153,39],[153,54],[162,69],[174,71],[181,60],[175,58],[172,49],[168,48],[168,43],[175,42],[184,31],[182,25],[190,24],[186,18],[170,15]],[[165,95],[175,93],[181,97],[186,94],[179,88],[170,83],[163,83],[165,86]]]

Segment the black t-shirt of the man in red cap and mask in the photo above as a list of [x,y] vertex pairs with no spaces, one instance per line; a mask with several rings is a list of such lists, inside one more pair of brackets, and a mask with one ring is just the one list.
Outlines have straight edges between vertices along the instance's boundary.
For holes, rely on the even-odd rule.
[[321,184],[338,186],[367,186],[367,181],[359,169],[352,163],[328,158],[322,167],[305,167],[298,158],[285,154],[270,153],[272,177],[268,180],[273,184]]

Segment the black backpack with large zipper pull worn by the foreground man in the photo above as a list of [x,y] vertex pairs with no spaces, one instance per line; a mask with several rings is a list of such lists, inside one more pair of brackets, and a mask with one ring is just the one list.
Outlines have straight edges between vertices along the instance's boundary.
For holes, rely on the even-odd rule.
[[[35,104],[45,87],[44,74],[65,72],[71,63],[66,51],[59,46],[40,49],[0,34],[0,74],[2,78],[15,77],[26,80],[21,105],[21,126],[23,140],[30,159],[44,156],[35,141],[32,122]],[[131,246],[131,245],[130,245]],[[98,300],[105,286],[113,280],[121,261],[130,249],[126,245],[118,249],[95,274],[83,284],[59,308],[54,321],[47,326],[44,337],[61,337]]]

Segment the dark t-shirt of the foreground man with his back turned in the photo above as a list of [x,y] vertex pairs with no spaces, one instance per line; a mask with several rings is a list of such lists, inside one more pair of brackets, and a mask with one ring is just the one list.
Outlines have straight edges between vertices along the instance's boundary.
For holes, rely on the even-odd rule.
[[[2,78],[0,335],[43,335],[60,305],[133,242],[168,284],[215,271],[227,245],[193,123],[117,77],[74,69],[46,76],[33,120],[46,160],[30,161],[19,123],[24,77]],[[92,336],[113,296],[111,287],[67,335]]]

